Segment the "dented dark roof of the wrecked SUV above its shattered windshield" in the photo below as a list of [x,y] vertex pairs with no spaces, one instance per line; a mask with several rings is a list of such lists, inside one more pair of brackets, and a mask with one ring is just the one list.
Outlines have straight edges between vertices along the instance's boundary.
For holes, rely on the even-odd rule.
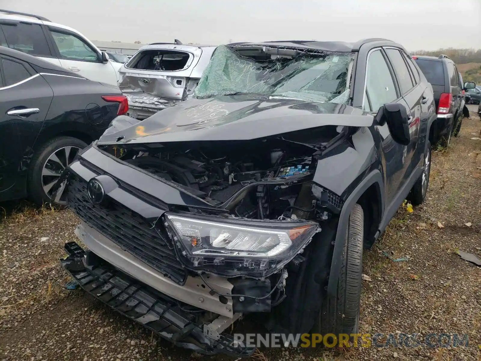
[[259,43],[254,42],[238,42],[238,43],[231,43],[228,46],[273,46],[273,47],[286,47],[286,48],[295,48],[295,49],[311,49],[311,50],[319,50],[325,52],[358,52],[361,45],[367,44],[369,42],[375,41],[382,41],[386,43],[390,43],[393,46],[399,47],[404,49],[401,45],[396,44],[392,40],[389,39],[381,39],[381,38],[370,38],[370,39],[362,39],[352,42],[345,42],[345,41],[315,41],[315,40],[275,40],[275,41],[264,41]]

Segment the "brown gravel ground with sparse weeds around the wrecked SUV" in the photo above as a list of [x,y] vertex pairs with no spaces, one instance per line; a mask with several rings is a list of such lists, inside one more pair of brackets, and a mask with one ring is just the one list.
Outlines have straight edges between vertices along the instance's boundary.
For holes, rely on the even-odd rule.
[[[468,334],[469,346],[262,349],[253,360],[481,360],[481,269],[456,255],[481,258],[481,140],[470,139],[480,126],[464,119],[448,150],[433,153],[425,205],[401,207],[365,253],[361,299],[361,333]],[[65,290],[58,259],[76,240],[76,217],[0,206],[0,360],[234,360],[173,347],[83,291]]]

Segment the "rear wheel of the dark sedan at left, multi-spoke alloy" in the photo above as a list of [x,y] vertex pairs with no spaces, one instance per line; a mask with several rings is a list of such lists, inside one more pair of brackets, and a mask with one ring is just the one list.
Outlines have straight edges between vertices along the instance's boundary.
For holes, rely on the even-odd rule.
[[46,203],[56,208],[66,205],[63,183],[58,192],[52,187],[58,181],[63,169],[74,160],[77,153],[87,144],[72,137],[57,137],[43,144],[32,158],[28,174],[28,194],[38,205]]

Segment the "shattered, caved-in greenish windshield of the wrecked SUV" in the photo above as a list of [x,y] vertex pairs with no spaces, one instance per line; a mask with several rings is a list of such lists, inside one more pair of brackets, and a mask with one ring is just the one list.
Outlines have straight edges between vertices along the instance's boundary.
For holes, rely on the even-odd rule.
[[346,103],[353,53],[300,51],[263,46],[217,47],[196,98],[261,94],[312,102]]

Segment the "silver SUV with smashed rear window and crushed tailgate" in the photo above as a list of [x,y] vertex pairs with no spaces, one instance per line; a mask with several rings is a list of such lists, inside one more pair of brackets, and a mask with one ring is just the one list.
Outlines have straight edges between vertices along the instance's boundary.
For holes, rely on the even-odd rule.
[[153,43],[143,46],[120,67],[119,86],[127,96],[128,115],[145,119],[186,100],[209,64],[215,46]]

